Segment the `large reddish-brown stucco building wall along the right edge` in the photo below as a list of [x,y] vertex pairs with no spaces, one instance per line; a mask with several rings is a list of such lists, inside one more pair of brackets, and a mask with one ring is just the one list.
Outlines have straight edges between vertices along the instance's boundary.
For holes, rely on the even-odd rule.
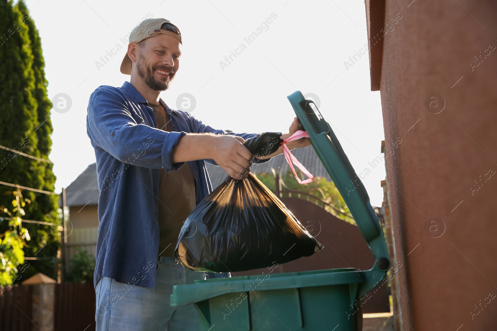
[[387,167],[404,330],[496,330],[497,4],[386,1],[385,22],[398,13],[380,90],[386,145],[402,139]]

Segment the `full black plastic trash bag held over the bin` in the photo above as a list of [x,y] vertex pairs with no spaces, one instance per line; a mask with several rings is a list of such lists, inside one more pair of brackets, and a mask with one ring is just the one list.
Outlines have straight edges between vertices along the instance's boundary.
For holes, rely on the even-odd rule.
[[[254,155],[278,149],[281,133],[245,141]],[[226,181],[186,219],[174,256],[197,271],[229,272],[265,268],[311,256],[323,249],[286,206],[254,175]]]

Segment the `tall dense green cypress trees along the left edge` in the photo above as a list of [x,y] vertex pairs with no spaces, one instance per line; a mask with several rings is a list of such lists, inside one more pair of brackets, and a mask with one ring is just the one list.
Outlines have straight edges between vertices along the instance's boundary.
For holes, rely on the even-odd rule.
[[[52,105],[46,93],[40,37],[23,1],[14,6],[12,0],[0,0],[0,31],[7,31],[0,37],[0,145],[48,159]],[[51,192],[55,184],[52,164],[3,149],[0,149],[0,180]],[[3,193],[12,189],[0,186],[0,205],[10,204],[11,196]],[[22,194],[32,201],[24,208],[25,219],[57,223],[55,196],[25,190]],[[25,256],[36,254],[42,259],[27,261],[29,267],[23,269],[18,280],[37,272],[55,277],[55,260],[50,258],[57,255],[59,246],[56,227],[32,223],[23,226],[31,235],[29,247],[24,248]]]

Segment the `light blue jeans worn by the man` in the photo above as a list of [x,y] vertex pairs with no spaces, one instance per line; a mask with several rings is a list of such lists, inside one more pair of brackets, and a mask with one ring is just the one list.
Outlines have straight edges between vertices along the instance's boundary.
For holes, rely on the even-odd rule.
[[128,285],[109,277],[96,283],[96,331],[197,331],[200,328],[193,305],[170,306],[172,286],[193,284],[205,273],[174,265],[173,258],[160,257],[157,290]]

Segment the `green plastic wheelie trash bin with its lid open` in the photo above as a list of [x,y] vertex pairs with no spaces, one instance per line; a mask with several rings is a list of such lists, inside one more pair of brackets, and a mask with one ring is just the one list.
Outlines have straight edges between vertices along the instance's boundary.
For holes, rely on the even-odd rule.
[[368,194],[330,125],[300,91],[289,95],[288,100],[354,216],[375,264],[369,270],[287,273],[273,273],[277,267],[273,265],[260,275],[174,286],[171,306],[194,304],[202,331],[361,330],[362,311],[357,300],[372,291],[390,267],[383,230]]

